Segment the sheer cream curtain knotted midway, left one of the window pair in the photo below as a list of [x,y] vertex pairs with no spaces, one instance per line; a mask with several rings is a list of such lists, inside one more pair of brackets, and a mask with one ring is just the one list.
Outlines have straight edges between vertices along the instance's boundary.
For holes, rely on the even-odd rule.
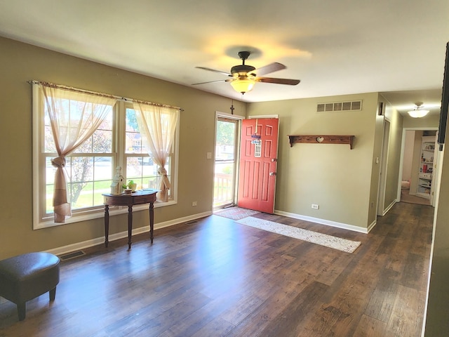
[[105,120],[115,98],[62,88],[53,84],[39,86],[45,100],[58,157],[51,159],[56,168],[53,213],[55,223],[72,215],[67,202],[65,157],[76,150]]

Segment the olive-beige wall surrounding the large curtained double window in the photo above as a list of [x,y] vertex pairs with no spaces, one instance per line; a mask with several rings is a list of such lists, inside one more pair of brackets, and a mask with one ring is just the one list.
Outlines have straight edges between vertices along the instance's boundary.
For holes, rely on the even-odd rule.
[[[14,182],[14,194],[0,194],[0,258],[27,251],[55,249],[101,238],[103,219],[32,230],[32,88],[31,79],[182,107],[178,203],[155,210],[158,223],[211,211],[215,111],[229,112],[231,99],[152,79],[95,62],[0,38],[0,173]],[[236,112],[246,105],[234,100]],[[192,201],[198,201],[192,207]],[[147,225],[137,212],[134,227]],[[110,233],[123,232],[126,215],[113,216]]]

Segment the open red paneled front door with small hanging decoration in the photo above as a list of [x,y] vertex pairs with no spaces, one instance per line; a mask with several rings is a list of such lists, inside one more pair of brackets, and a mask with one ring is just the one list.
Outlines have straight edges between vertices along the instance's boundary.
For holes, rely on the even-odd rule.
[[237,205],[274,212],[278,119],[244,119],[241,127],[239,199]]

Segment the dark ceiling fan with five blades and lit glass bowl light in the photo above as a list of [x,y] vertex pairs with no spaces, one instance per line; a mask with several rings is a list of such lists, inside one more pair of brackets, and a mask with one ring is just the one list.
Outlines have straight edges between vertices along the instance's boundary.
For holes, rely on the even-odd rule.
[[201,83],[194,83],[192,86],[198,84],[214,83],[214,82],[231,82],[232,88],[239,93],[246,93],[253,89],[256,82],[264,83],[274,83],[274,84],[287,84],[289,86],[295,86],[300,83],[299,79],[275,79],[273,77],[262,77],[264,74],[269,74],[270,72],[277,72],[278,70],[286,69],[285,65],[281,63],[274,62],[264,67],[255,69],[252,65],[246,65],[245,61],[248,59],[251,53],[249,51],[239,51],[239,57],[242,60],[241,65],[234,65],[231,68],[231,72],[222,72],[220,70],[214,70],[206,67],[196,67],[203,70],[208,70],[210,72],[219,72],[220,74],[225,74],[231,79],[219,79],[218,81],[208,81]]

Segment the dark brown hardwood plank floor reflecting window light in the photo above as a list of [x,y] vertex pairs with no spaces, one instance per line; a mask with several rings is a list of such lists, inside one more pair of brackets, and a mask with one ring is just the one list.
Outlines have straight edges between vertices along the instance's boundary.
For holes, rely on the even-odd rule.
[[25,321],[0,299],[0,336],[420,336],[433,212],[398,203],[370,234],[257,215],[361,241],[352,254],[220,216],[86,249]]

